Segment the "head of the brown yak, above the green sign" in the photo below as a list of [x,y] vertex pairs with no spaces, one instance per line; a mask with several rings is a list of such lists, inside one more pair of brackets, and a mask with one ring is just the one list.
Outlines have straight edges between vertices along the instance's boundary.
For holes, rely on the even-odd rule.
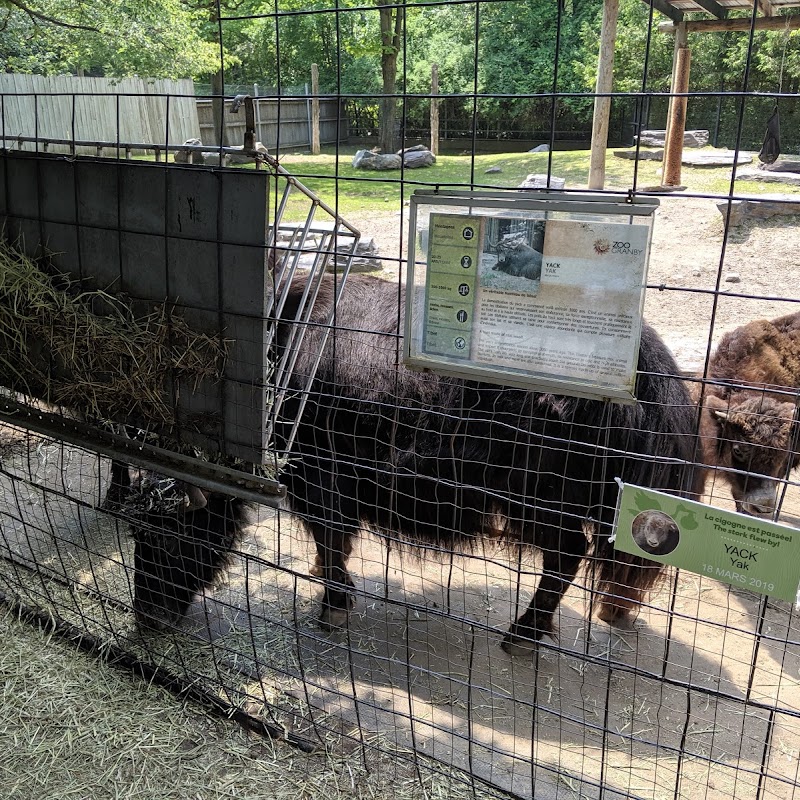
[[706,461],[724,467],[736,510],[770,517],[781,479],[798,464],[794,403],[741,394],[723,400],[706,396],[702,434]]

